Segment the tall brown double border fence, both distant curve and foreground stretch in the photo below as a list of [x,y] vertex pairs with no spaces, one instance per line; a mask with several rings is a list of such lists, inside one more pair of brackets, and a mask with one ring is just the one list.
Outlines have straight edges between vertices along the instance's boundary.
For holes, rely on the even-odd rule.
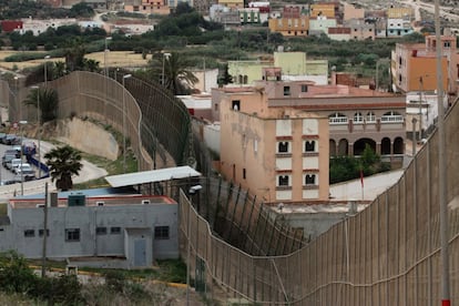
[[[120,82],[90,72],[74,72],[49,86],[59,92],[60,118],[86,114],[123,131],[125,113],[126,135],[140,170],[152,169],[156,153],[160,160],[172,156],[176,164],[188,161],[193,145],[198,146],[191,141],[190,119],[182,106],[142,81],[124,81],[135,96],[124,92]],[[166,110],[167,103],[175,110]],[[452,305],[459,303],[457,118],[459,108],[453,105],[446,118],[445,156]],[[144,144],[152,145],[147,153],[142,151]],[[208,176],[192,181],[203,186],[197,195],[185,194],[187,188],[174,191],[180,195],[174,198],[180,200],[182,256],[192,267],[196,288],[211,297],[218,287],[227,297],[259,305],[438,305],[437,182],[434,133],[392,187],[363,212],[306,242],[237,186]]]

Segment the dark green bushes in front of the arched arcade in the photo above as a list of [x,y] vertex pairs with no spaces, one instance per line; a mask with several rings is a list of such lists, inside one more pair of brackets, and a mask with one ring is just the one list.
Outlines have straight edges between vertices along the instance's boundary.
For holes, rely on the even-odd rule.
[[376,173],[390,170],[389,163],[384,163],[380,156],[376,154],[367,144],[359,157],[355,156],[334,156],[329,163],[329,183],[336,184],[360,176],[369,176]]

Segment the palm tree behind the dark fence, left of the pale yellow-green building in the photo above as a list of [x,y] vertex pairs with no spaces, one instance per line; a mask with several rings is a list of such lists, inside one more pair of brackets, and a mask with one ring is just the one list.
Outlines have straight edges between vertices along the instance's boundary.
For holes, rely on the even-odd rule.
[[150,61],[149,74],[155,80],[162,80],[164,68],[163,85],[174,94],[185,94],[198,81],[193,72],[188,70],[192,65],[191,62],[176,52],[172,52],[169,57],[157,53]]

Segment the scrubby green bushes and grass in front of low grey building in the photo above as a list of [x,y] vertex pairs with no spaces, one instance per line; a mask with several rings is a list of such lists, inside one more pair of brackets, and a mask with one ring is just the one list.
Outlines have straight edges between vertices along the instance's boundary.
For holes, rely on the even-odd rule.
[[[184,283],[185,267],[183,262],[177,259],[159,262],[159,269],[133,272],[98,269],[102,271],[100,276],[95,275],[94,282],[83,285],[74,275],[41,278],[29,267],[28,261],[11,251],[0,253],[0,304],[169,305],[173,298],[183,294],[183,290],[174,293],[173,288],[167,288],[165,285],[150,285],[145,280],[164,278],[162,271],[165,269],[173,271],[174,275],[183,276],[180,280]],[[105,282],[98,282],[99,278]],[[172,280],[165,277],[165,282]]]

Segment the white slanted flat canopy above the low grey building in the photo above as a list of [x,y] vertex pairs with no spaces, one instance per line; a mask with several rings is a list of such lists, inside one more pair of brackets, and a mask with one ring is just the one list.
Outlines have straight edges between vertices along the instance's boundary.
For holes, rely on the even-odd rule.
[[196,176],[201,176],[201,173],[195,171],[191,166],[177,166],[119,175],[110,175],[105,177],[105,181],[109,182],[109,184],[112,187],[122,187]]

